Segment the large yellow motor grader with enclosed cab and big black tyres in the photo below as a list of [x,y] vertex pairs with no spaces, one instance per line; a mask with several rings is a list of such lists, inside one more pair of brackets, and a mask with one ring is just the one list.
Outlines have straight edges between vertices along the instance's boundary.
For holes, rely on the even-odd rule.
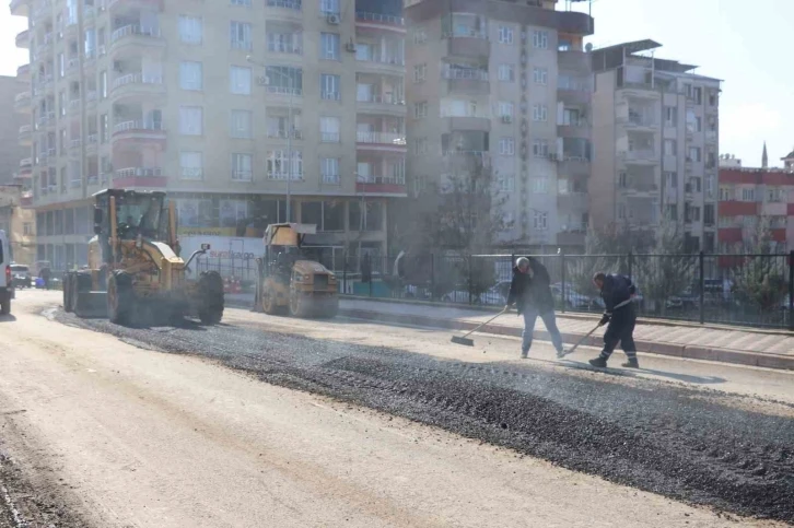
[[106,189],[94,198],[94,233],[89,266],[63,279],[63,308],[79,317],[108,317],[127,325],[141,316],[178,322],[186,316],[206,325],[223,316],[223,280],[215,271],[188,278],[176,238],[174,202],[161,191]]

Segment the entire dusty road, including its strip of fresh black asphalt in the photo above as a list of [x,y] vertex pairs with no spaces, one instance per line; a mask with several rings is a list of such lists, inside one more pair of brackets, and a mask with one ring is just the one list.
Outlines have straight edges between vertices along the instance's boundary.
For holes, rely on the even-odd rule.
[[541,343],[521,363],[506,339],[232,309],[209,329],[40,315],[57,304],[22,292],[0,322],[2,528],[794,520],[791,374],[608,376]]

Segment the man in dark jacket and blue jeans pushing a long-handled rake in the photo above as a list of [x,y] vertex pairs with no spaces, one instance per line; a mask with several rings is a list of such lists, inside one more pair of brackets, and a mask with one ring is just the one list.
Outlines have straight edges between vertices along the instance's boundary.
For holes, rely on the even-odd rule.
[[524,316],[524,332],[521,345],[521,356],[529,354],[533,344],[533,332],[538,316],[544,320],[546,330],[551,336],[551,342],[557,349],[557,354],[562,354],[562,336],[557,329],[554,318],[554,297],[549,288],[549,272],[546,267],[534,258],[521,257],[515,261],[513,269],[513,281],[510,284],[507,305],[510,309],[516,305],[518,314]]

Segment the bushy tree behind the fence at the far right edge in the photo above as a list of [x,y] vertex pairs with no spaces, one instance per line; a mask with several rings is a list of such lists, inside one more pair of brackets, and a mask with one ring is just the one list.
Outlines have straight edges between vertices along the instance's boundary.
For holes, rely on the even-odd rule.
[[760,312],[777,310],[786,295],[786,259],[775,257],[769,219],[762,218],[746,237],[743,258],[733,270],[736,300]]

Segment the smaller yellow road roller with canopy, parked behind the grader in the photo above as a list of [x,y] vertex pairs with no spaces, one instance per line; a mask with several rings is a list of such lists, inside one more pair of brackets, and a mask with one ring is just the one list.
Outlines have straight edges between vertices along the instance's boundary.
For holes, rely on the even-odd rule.
[[271,224],[265,231],[265,256],[257,259],[255,309],[266,314],[289,310],[294,317],[334,317],[339,310],[337,278],[302,249],[313,224]]

